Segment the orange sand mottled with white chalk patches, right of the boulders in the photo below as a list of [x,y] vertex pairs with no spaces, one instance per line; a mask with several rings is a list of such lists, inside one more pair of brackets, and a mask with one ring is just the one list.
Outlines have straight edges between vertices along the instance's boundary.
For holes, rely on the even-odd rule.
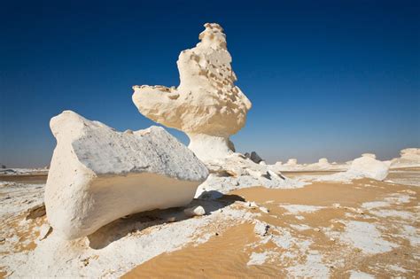
[[257,218],[267,224],[268,240],[255,236],[246,223],[206,244],[155,257],[125,277],[419,275],[416,187],[362,179],[232,194],[268,208]]

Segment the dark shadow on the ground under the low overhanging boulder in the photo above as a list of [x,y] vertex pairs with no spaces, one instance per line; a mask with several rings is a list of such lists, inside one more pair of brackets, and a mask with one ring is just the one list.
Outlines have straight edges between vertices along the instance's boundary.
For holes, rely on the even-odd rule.
[[[201,205],[206,210],[206,215],[229,206],[236,201],[245,201],[237,195],[222,195],[218,199],[194,198],[185,207],[173,207],[168,209],[156,209],[143,213],[136,213],[122,217],[104,227],[97,229],[96,232],[88,236],[89,247],[92,249],[102,249],[125,236],[144,231],[144,229],[163,225],[171,222],[185,221],[190,219],[183,210],[185,208]],[[202,218],[202,217],[195,217]]]

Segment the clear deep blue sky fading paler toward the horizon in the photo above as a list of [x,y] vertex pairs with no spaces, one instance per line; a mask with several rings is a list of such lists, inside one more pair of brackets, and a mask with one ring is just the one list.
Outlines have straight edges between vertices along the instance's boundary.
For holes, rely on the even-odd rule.
[[419,1],[1,1],[0,163],[49,164],[49,120],[63,110],[153,125],[131,86],[177,85],[179,52],[206,22],[224,27],[253,102],[238,151],[395,157],[420,146],[419,15]]

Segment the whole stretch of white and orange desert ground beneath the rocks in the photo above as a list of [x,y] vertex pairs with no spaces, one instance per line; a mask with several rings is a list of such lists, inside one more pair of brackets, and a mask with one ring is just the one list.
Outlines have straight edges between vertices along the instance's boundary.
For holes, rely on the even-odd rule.
[[[331,172],[288,175],[324,174]],[[418,168],[399,169],[386,182],[234,190],[216,201],[195,199],[205,216],[186,218],[183,208],[139,213],[74,244],[51,233],[39,177],[3,182],[0,277],[27,269],[34,276],[416,278],[419,177]],[[52,261],[43,260],[56,246]]]

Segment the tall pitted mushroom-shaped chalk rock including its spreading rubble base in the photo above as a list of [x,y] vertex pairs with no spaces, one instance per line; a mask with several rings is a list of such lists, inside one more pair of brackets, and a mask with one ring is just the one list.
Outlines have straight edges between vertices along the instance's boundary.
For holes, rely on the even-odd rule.
[[235,86],[237,77],[222,27],[214,23],[205,27],[199,35],[201,42],[179,55],[179,86],[135,86],[134,104],[151,120],[190,137],[189,148],[211,173],[196,197],[214,198],[213,194],[255,185],[301,187],[302,183],[286,179],[271,166],[259,164],[262,159],[255,152],[248,158],[235,152],[229,136],[244,127],[251,102]]

